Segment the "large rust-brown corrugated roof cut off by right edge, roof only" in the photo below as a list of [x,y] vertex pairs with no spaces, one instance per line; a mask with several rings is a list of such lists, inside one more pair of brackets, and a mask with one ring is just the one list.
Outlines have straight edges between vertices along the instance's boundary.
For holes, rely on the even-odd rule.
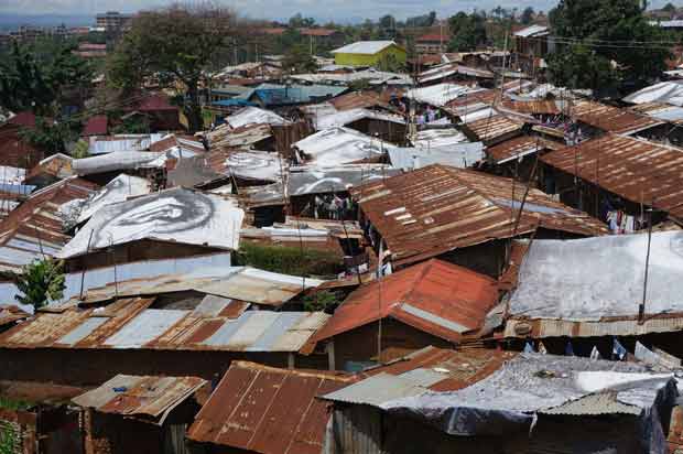
[[548,153],[541,161],[683,220],[682,149],[606,134]]

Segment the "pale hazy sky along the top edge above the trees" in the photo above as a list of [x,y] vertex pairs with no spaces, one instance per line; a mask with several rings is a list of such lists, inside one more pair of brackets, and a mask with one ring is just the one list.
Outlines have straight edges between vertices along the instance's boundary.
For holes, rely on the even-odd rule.
[[[289,18],[296,12],[304,15],[343,21],[350,18],[371,18],[391,13],[399,19],[434,10],[440,18],[474,8],[491,9],[531,6],[548,11],[556,0],[214,0],[230,6],[242,15],[264,19]],[[666,0],[652,0],[652,7],[662,7]],[[683,0],[673,1],[683,4]],[[0,14],[94,14],[118,10],[132,12],[167,4],[167,0],[0,0]]]

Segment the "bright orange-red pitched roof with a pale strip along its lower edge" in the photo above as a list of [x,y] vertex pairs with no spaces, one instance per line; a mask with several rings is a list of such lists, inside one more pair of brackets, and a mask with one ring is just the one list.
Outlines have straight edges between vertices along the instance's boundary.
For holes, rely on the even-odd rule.
[[314,340],[392,317],[455,342],[463,333],[477,329],[497,302],[498,284],[494,279],[433,259],[360,287],[315,334]]

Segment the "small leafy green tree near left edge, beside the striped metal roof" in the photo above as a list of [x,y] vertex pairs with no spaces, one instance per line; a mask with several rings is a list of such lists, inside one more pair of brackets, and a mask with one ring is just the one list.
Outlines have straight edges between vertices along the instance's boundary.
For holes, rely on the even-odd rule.
[[14,298],[22,304],[40,309],[48,300],[64,296],[64,262],[47,258],[24,264],[17,278],[17,288],[23,295]]

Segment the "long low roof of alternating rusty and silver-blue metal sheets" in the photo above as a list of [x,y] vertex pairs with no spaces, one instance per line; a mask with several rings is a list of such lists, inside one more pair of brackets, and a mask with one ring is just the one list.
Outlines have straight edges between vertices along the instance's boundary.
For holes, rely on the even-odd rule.
[[299,352],[329,318],[322,312],[245,312],[243,302],[231,300],[206,311],[150,309],[153,301],[41,313],[0,334],[0,347]]

